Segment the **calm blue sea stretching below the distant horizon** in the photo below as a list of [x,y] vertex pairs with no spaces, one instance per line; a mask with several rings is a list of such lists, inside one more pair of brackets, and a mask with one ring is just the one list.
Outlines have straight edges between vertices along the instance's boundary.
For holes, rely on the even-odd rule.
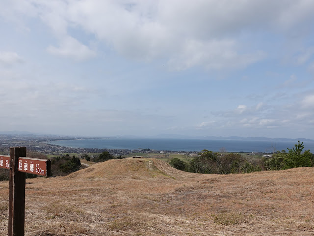
[[[293,148],[297,141],[256,141],[256,140],[209,140],[209,139],[152,139],[152,138],[99,138],[57,140],[50,144],[71,148],[99,149],[144,149],[169,151],[201,151],[203,149],[227,152],[268,152]],[[314,142],[305,141],[304,150],[314,151]]]

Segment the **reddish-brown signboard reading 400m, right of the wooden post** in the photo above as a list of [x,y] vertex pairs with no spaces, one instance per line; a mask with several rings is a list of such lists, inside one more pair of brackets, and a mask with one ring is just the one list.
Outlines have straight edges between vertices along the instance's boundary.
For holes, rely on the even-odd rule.
[[20,157],[18,170],[39,176],[50,176],[51,160]]

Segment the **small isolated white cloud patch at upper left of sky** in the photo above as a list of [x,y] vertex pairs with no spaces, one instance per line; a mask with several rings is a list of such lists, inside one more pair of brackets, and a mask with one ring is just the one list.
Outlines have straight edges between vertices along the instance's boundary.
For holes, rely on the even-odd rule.
[[90,59],[96,56],[94,51],[70,36],[61,40],[59,48],[49,46],[47,51],[52,55],[71,58],[78,61]]

